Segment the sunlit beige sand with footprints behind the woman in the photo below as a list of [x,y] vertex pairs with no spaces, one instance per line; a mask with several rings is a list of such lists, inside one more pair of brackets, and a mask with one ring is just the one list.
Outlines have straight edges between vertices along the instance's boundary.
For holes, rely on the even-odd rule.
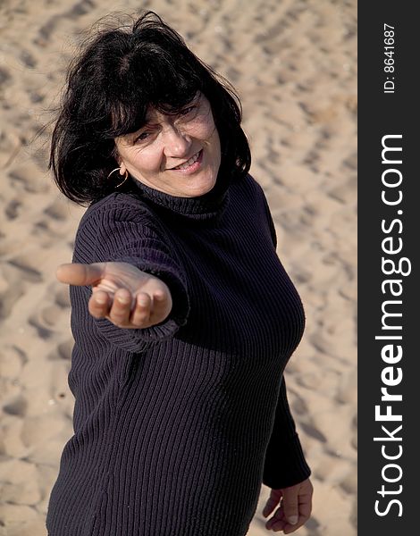
[[[307,312],[286,372],[315,486],[298,534],[356,534],[356,4],[0,0],[0,536],[46,535],[71,436],[70,307],[55,267],[71,260],[83,209],[46,170],[50,130],[34,137],[51,119],[80,30],[139,8],[161,14],[239,90],[251,172]],[[269,534],[261,507],[248,536]]]

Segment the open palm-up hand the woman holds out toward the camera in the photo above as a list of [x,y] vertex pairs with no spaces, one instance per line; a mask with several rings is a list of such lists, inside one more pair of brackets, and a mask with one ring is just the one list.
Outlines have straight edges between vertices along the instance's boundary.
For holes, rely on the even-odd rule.
[[89,313],[120,328],[148,328],[163,322],[172,309],[164,281],[128,263],[62,264],[56,277],[70,285],[91,285]]

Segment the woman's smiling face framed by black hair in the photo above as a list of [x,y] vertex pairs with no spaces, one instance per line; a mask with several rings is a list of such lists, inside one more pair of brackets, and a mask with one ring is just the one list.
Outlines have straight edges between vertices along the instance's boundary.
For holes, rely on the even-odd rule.
[[147,124],[115,138],[121,174],[175,197],[210,191],[221,162],[219,134],[206,96],[198,93],[181,113],[151,108]]

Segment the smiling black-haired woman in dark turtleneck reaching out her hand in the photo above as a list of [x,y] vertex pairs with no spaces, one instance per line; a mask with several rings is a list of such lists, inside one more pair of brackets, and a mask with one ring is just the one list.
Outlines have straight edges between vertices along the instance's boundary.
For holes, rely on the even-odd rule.
[[71,284],[74,435],[50,536],[244,536],[311,511],[282,372],[304,327],[231,87],[148,12],[71,65],[52,139],[88,203]]

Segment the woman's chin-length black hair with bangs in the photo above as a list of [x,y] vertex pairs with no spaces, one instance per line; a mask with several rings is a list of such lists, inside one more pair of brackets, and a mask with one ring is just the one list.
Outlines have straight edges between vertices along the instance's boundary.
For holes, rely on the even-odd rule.
[[69,67],[53,130],[49,168],[58,188],[79,205],[113,192],[121,181],[118,172],[107,179],[118,165],[114,138],[144,126],[150,106],[178,113],[197,91],[210,102],[221,141],[219,173],[246,175],[239,96],[161,17],[147,11],[130,27],[89,38]]

